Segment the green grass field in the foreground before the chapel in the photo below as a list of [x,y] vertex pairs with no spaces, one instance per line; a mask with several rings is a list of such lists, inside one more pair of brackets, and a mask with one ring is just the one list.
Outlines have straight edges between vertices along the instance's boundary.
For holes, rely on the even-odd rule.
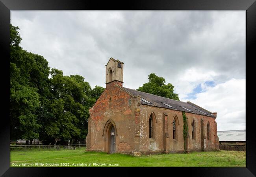
[[85,152],[84,149],[11,151],[10,166],[86,167],[91,163],[93,167],[109,167],[106,164],[111,164],[111,166],[119,164],[116,165],[119,167],[245,167],[245,153],[245,151],[212,151],[133,157],[118,153]]

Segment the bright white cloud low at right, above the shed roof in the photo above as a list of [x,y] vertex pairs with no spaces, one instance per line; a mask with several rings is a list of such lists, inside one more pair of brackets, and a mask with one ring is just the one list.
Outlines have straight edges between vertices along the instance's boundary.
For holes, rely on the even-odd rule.
[[217,112],[217,129],[246,129],[245,79],[231,79],[225,83],[207,87],[206,92],[196,94],[191,102],[211,112]]

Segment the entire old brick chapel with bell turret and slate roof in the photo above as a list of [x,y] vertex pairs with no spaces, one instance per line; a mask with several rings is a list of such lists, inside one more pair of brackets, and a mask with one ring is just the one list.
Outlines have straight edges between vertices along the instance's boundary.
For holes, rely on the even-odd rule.
[[[109,59],[106,89],[89,109],[87,151],[142,155],[219,149],[216,112],[125,88],[123,71],[124,63]],[[188,125],[185,147],[182,112]]]

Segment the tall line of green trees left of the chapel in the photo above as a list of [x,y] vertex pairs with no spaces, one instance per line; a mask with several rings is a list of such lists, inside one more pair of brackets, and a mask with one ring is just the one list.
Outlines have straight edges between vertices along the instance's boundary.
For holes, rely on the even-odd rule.
[[104,88],[91,89],[82,76],[50,69],[43,56],[20,47],[18,30],[10,24],[10,139],[83,141],[89,107]]

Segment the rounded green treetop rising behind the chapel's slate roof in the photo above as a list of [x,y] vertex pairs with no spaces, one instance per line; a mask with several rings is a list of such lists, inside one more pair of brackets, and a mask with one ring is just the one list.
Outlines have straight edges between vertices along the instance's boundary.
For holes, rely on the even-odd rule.
[[174,93],[174,86],[171,83],[165,84],[163,77],[158,77],[156,74],[151,73],[148,75],[149,82],[143,84],[142,87],[137,89],[141,92],[146,92],[173,100],[180,100],[178,94]]

